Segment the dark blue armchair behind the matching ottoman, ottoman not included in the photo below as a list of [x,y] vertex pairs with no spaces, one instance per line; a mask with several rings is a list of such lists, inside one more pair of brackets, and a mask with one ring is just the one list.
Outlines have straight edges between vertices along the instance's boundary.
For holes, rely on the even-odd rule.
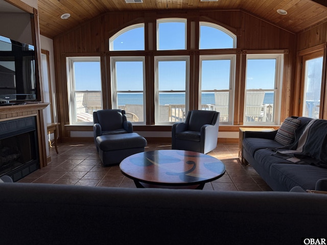
[[126,134],[133,132],[133,126],[126,118],[124,110],[108,109],[93,112],[94,142],[97,146],[97,137],[101,135]]

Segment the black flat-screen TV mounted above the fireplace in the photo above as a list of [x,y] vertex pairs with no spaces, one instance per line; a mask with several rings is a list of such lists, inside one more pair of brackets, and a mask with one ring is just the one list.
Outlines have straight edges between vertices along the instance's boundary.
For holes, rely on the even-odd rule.
[[34,46],[0,36],[0,105],[37,101]]

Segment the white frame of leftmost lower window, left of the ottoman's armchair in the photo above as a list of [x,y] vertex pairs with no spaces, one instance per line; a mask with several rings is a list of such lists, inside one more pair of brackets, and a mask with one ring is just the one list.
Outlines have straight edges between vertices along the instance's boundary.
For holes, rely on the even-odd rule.
[[[66,70],[67,70],[67,93],[68,93],[68,108],[69,108],[69,125],[93,125],[92,121],[77,121],[77,107],[76,107],[76,93],[78,92],[99,92],[99,90],[75,90],[75,62],[99,62],[101,72],[101,57],[100,56],[80,56],[80,57],[66,57]],[[100,76],[100,85],[102,85],[102,76]],[[101,94],[101,109],[103,109],[102,100],[102,86]],[[76,120],[75,120],[76,118]]]

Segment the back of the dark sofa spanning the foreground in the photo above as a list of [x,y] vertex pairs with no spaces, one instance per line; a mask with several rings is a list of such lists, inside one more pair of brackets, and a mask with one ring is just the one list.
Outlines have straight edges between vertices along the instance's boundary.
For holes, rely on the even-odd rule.
[[315,193],[0,183],[0,240],[11,245],[303,244],[305,238],[326,237],[326,204],[327,195]]

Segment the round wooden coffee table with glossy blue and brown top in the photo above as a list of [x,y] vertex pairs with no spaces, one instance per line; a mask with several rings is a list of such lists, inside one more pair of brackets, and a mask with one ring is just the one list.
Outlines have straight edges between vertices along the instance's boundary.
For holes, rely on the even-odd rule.
[[141,152],[119,165],[136,187],[202,189],[225,174],[225,165],[215,157],[182,150]]

